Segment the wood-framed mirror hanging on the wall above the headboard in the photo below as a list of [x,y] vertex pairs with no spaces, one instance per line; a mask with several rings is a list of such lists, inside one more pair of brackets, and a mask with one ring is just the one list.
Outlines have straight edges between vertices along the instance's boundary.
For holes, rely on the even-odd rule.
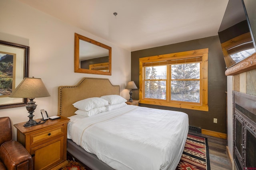
[[75,33],[75,72],[111,75],[111,47]]

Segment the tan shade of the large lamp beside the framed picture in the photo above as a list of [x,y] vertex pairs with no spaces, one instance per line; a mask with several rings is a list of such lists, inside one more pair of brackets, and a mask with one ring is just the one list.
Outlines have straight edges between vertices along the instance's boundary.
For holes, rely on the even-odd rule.
[[42,98],[50,96],[41,78],[24,78],[10,98]]

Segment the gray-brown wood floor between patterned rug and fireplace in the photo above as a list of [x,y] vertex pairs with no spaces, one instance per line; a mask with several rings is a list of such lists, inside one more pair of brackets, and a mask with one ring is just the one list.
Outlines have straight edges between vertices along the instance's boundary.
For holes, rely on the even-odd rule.
[[227,140],[204,134],[189,133],[192,135],[207,137],[211,170],[232,170],[232,165],[230,164],[226,154]]

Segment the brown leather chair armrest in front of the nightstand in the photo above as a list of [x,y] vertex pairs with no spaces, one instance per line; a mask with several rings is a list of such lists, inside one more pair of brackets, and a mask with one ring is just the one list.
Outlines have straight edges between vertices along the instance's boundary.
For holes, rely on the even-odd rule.
[[33,159],[17,141],[9,141],[0,146],[0,158],[8,170],[33,170]]

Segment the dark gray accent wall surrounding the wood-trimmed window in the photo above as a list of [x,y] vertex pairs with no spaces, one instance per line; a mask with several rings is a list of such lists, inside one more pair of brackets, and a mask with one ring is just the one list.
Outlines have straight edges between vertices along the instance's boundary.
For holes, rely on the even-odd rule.
[[[144,107],[182,111],[188,114],[189,125],[210,131],[226,133],[226,65],[218,35],[182,43],[154,47],[131,53],[131,80],[139,87],[139,58],[208,48],[208,106],[209,111],[140,104]],[[139,90],[133,90],[133,99],[139,99]],[[218,123],[213,123],[217,118]]]

